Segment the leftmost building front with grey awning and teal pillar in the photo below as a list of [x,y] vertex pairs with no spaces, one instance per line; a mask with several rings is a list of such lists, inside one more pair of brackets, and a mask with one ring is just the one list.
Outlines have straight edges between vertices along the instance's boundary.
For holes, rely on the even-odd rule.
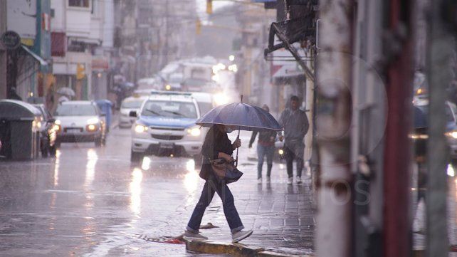
[[[0,3],[0,34],[14,31],[18,48],[0,46],[0,98],[43,103],[51,79],[50,0],[6,0]],[[20,22],[19,22],[20,21]]]

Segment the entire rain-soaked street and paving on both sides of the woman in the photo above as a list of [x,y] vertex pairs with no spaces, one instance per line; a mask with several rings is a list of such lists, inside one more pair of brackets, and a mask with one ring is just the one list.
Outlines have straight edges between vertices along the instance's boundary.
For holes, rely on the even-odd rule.
[[[245,174],[230,186],[243,224],[255,231],[243,243],[312,252],[309,183],[288,186],[285,165],[276,163],[272,183],[258,185],[249,136],[241,137]],[[204,184],[198,172],[189,158],[147,157],[132,165],[130,130],[118,128],[105,147],[64,143],[56,158],[0,162],[0,256],[214,256],[141,239],[183,233]],[[231,241],[217,196],[207,222],[219,228],[203,234]]]

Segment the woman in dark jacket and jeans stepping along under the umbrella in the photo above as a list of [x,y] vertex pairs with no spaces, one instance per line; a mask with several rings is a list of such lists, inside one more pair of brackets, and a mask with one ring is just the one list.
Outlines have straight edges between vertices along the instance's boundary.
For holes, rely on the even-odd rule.
[[226,162],[233,162],[233,150],[241,147],[241,140],[237,138],[233,144],[229,140],[227,133],[233,131],[233,127],[226,125],[214,125],[206,134],[201,154],[203,155],[203,164],[201,165],[200,177],[205,179],[203,190],[199,202],[196,204],[194,212],[191,215],[189,223],[187,224],[186,231],[184,232],[184,239],[187,240],[206,240],[206,236],[199,234],[201,219],[203,218],[204,211],[213,199],[214,192],[221,197],[222,205],[224,207],[224,214],[231,229],[232,242],[236,243],[244,238],[251,236],[252,230],[243,231],[244,226],[241,223],[240,216],[233,201],[233,195],[229,187],[224,181],[219,181],[214,174],[211,167],[210,160],[223,158]]

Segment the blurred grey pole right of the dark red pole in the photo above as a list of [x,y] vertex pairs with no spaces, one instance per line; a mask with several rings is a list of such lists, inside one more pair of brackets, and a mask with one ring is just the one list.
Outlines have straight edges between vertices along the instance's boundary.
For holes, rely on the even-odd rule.
[[[429,78],[429,145],[427,151],[428,188],[426,194],[426,248],[427,256],[448,256],[448,229],[446,221],[446,164],[448,149],[444,135],[446,87],[451,81],[449,61],[452,55],[451,36],[441,20],[442,0],[431,1],[429,20],[429,49],[427,75]],[[452,233],[452,232],[451,232]]]

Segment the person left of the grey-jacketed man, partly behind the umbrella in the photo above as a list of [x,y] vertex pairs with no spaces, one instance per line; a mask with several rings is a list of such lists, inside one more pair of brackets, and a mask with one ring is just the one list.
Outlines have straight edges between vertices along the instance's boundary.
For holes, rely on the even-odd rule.
[[[262,106],[263,110],[270,112],[270,108],[268,105]],[[265,130],[261,132],[253,131],[251,140],[249,140],[249,148],[252,147],[253,142],[256,140],[256,136],[258,134],[258,141],[257,141],[257,183],[262,184],[262,167],[263,167],[263,159],[267,159],[267,177],[266,182],[270,183],[270,174],[271,168],[273,167],[273,154],[275,154],[275,139],[276,139],[276,132],[273,130]]]

